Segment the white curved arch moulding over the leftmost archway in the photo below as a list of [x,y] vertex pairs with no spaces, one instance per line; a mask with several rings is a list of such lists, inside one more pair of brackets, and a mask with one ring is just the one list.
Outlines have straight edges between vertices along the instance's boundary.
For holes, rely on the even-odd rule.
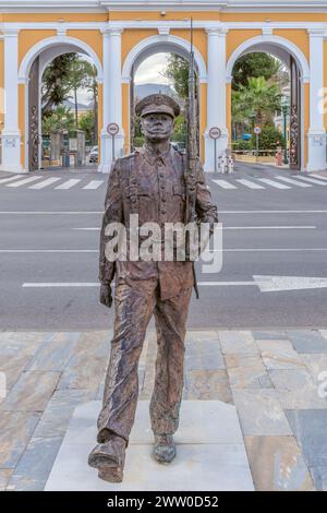
[[97,53],[84,41],[77,39],[76,37],[70,36],[52,36],[47,37],[46,39],[41,39],[36,45],[34,45],[24,56],[20,70],[19,70],[19,81],[26,82],[28,80],[28,74],[31,71],[31,67],[36,59],[43,51],[57,46],[57,45],[70,45],[74,47],[73,50],[76,51],[76,48],[82,50],[84,53],[88,55],[97,69],[97,81],[101,82],[104,79],[102,65],[100,59],[98,58]]

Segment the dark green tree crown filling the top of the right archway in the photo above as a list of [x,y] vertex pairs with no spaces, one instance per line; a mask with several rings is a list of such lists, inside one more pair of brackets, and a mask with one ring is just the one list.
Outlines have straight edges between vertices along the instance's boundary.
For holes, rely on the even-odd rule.
[[240,57],[233,67],[232,88],[246,87],[247,79],[264,76],[266,81],[277,75],[281,69],[281,62],[263,51],[246,53]]

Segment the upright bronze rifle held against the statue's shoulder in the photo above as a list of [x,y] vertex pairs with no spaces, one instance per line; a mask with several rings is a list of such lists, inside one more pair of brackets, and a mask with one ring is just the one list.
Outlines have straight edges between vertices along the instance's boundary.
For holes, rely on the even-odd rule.
[[[184,179],[186,186],[185,225],[194,223],[196,183],[197,183],[197,130],[196,130],[196,103],[195,103],[195,76],[194,76],[194,51],[193,51],[193,19],[191,17],[191,51],[189,64],[189,98],[186,102],[186,165]],[[185,246],[191,251],[190,231],[186,231]],[[194,289],[198,299],[198,288],[193,262]]]

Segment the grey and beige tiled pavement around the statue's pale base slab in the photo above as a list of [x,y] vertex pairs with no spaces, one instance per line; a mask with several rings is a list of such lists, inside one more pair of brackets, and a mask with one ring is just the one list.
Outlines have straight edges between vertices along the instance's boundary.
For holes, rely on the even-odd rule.
[[[0,490],[44,489],[75,406],[101,398],[110,337],[0,333]],[[140,399],[155,358],[148,332]],[[235,405],[256,490],[327,490],[326,382],[326,330],[187,332],[184,398]]]

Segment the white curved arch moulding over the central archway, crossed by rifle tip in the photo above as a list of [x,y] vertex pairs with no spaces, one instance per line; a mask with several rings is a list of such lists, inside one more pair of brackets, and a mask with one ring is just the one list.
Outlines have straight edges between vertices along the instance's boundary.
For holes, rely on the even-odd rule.
[[[122,81],[130,82],[133,64],[137,63],[138,59],[141,60],[141,58],[149,57],[157,51],[171,51],[173,49],[182,57],[186,57],[190,52],[190,43],[182,37],[170,35],[150,36],[142,39],[142,41],[132,48],[124,60],[122,69]],[[198,70],[199,82],[206,82],[206,63],[201,52],[195,47],[194,59]]]

